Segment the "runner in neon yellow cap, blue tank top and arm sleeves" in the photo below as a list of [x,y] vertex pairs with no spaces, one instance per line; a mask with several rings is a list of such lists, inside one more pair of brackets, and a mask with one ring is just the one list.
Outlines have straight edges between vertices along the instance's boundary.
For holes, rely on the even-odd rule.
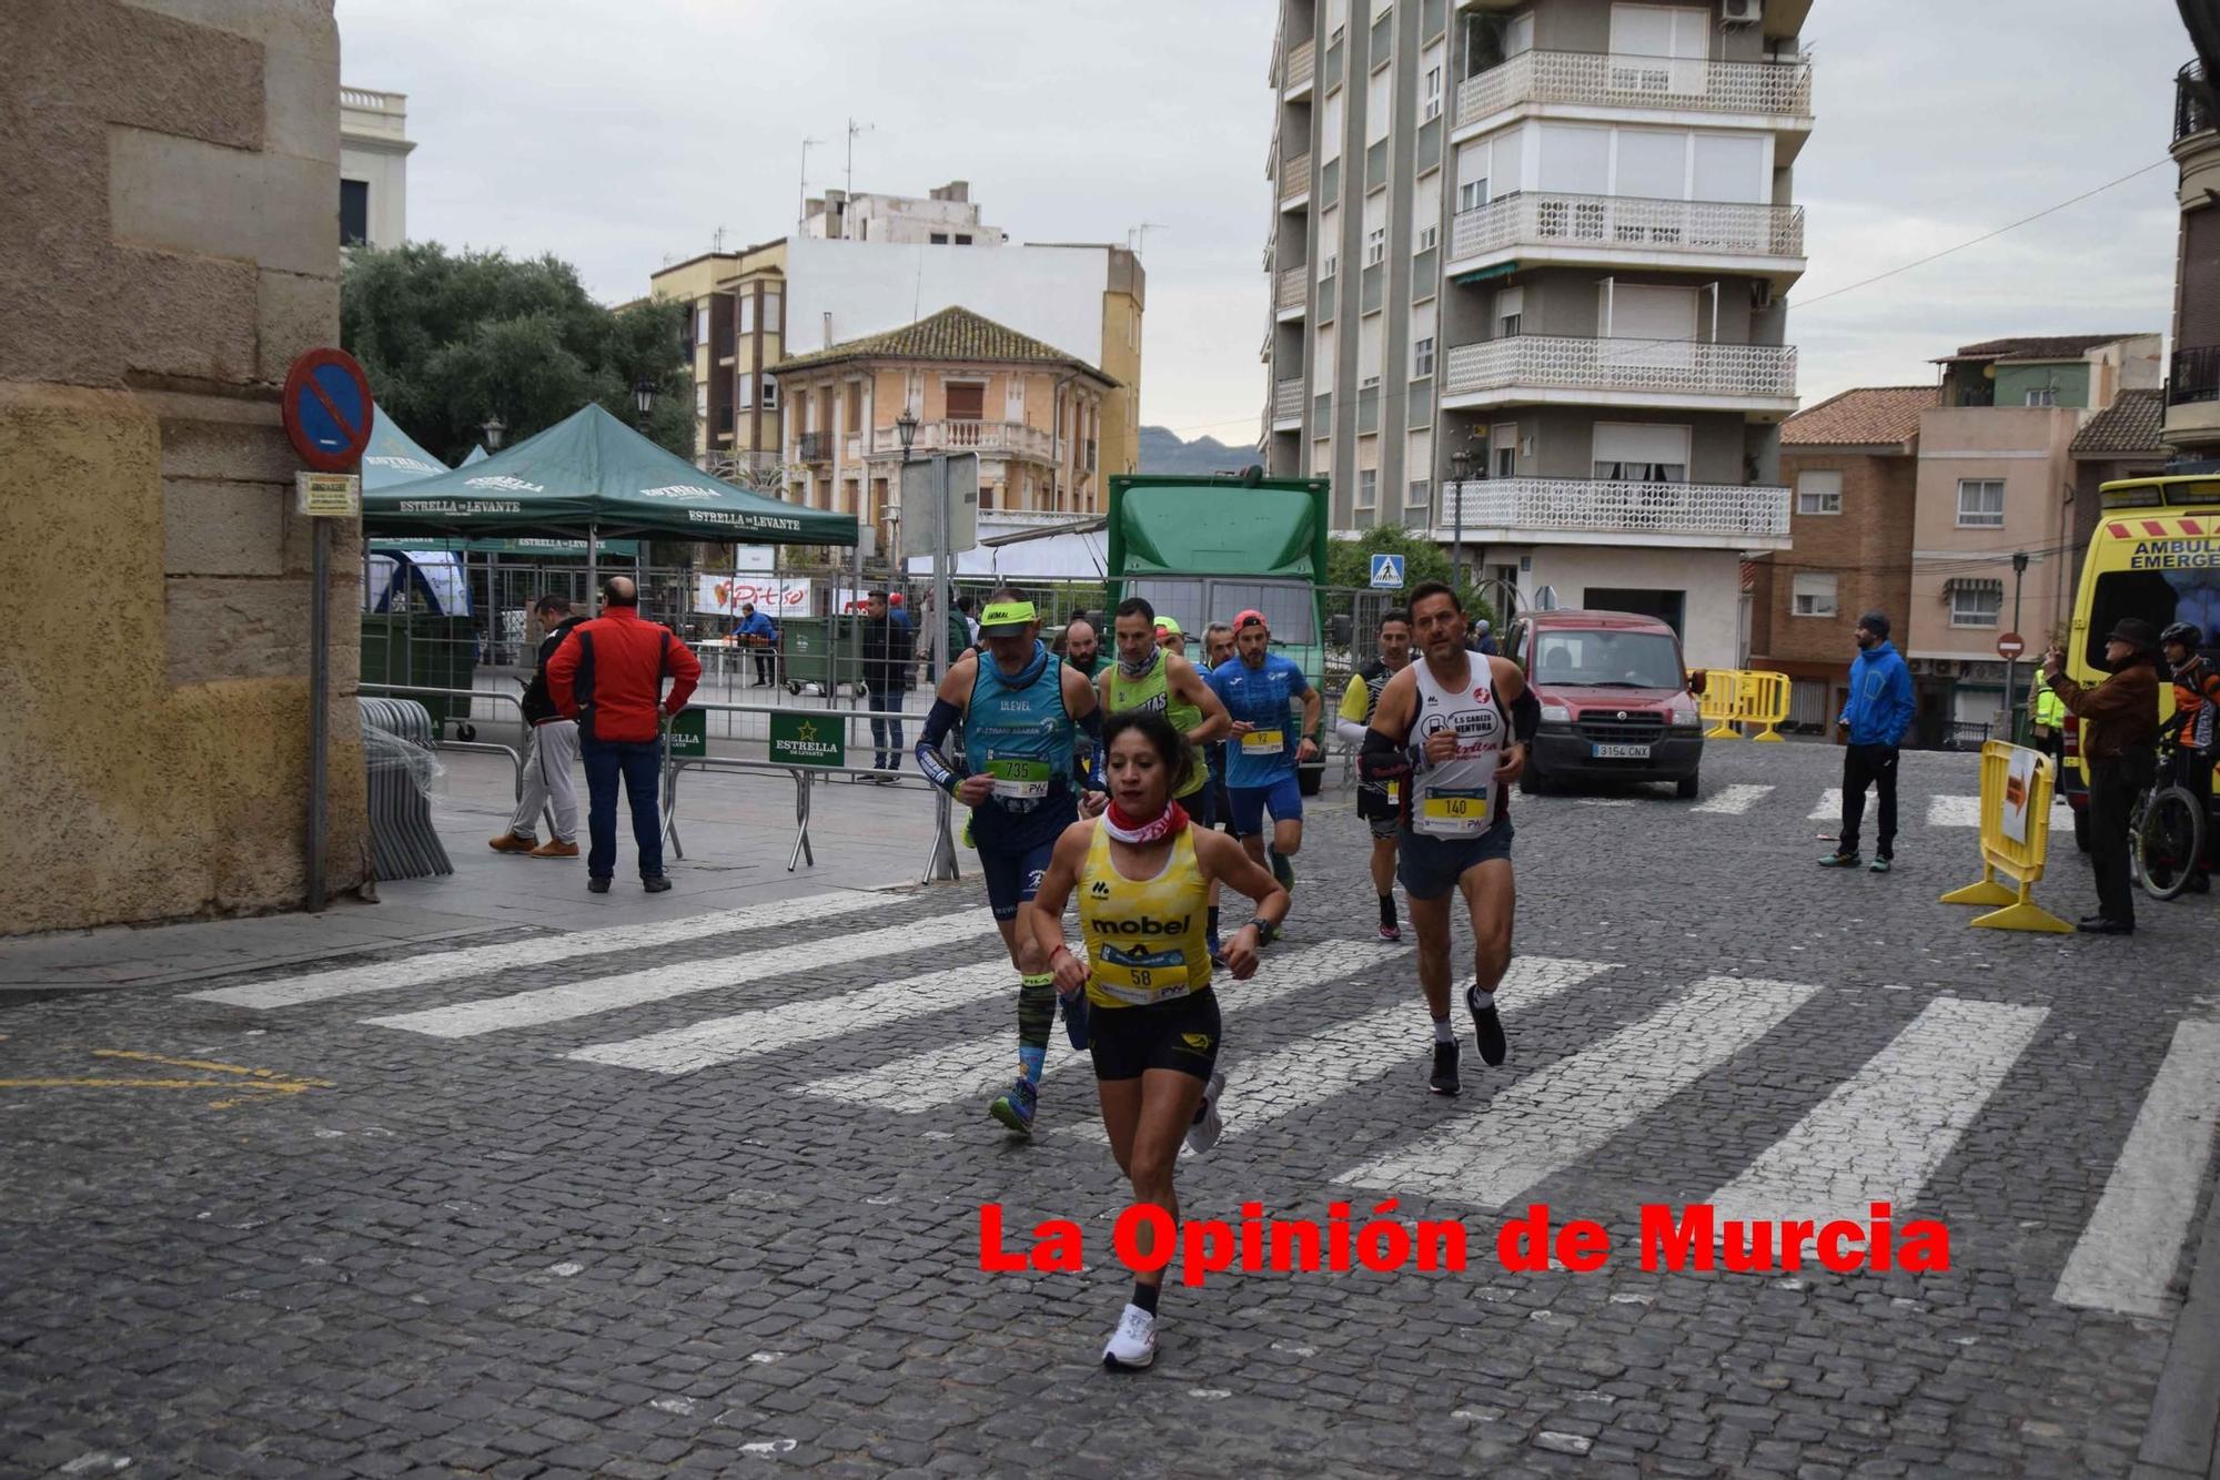
[[[1048,1061],[1048,1027],[1057,990],[1048,959],[1017,932],[1017,908],[1032,899],[1048,852],[1077,817],[1077,730],[1101,734],[1094,688],[1079,670],[1054,661],[1041,624],[1015,590],[997,590],[979,621],[983,652],[966,652],[941,679],[932,712],[917,737],[917,768],[932,785],[972,808],[979,872],[1010,963],[1017,967],[1017,1083],[995,1096],[988,1114],[1017,1136],[1032,1134],[1032,1112]],[[941,757],[950,728],[963,726],[963,770]],[[1090,799],[1088,814],[1101,810]],[[1083,996],[1063,1001],[1063,1032],[1088,1045]]]

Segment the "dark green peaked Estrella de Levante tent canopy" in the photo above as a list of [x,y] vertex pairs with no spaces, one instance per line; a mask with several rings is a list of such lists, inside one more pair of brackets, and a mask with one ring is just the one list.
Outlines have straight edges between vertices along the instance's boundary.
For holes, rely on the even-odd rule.
[[852,546],[855,515],[781,504],[702,473],[599,406],[484,462],[362,495],[371,535],[655,535]]

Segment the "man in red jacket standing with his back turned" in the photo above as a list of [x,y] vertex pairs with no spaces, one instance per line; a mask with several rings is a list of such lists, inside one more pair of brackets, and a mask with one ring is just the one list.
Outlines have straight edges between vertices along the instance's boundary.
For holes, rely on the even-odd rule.
[[[664,699],[664,679],[670,697]],[[577,719],[586,761],[586,888],[608,894],[617,868],[617,779],[633,805],[639,883],[648,894],[670,888],[664,876],[662,723],[677,714],[702,681],[702,659],[670,628],[639,619],[639,588],[613,575],[602,588],[602,615],[573,628],[548,659],[548,695]]]

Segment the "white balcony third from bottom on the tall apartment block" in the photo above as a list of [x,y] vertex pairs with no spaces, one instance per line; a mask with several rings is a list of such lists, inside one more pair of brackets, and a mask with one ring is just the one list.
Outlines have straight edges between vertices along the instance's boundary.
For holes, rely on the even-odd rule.
[[1769,271],[1785,288],[1803,275],[1803,206],[1521,191],[1461,211],[1450,224],[1452,277],[1510,260]]

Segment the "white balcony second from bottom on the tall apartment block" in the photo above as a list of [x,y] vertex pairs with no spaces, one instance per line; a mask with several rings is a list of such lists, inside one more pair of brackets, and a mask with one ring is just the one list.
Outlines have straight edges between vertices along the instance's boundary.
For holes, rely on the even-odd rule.
[[1450,351],[1445,410],[1516,404],[1796,410],[1796,348],[1694,339],[1512,335]]

